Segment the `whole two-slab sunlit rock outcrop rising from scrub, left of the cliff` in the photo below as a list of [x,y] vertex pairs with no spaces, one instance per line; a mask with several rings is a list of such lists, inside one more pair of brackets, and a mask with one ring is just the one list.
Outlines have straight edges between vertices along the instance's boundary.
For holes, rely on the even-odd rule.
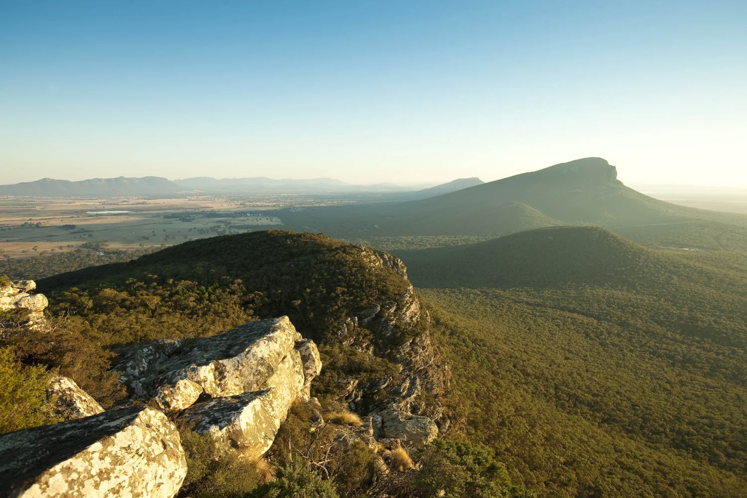
[[317,346],[288,317],[249,322],[224,334],[164,340],[132,350],[116,370],[134,398],[178,412],[218,449],[257,460],[288,408],[309,399],[321,370]]

